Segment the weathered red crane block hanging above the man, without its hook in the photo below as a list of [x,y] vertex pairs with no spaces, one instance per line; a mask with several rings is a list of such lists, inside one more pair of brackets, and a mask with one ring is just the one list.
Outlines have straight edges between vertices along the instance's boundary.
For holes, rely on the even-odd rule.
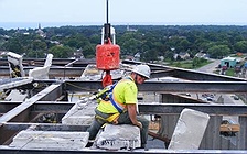
[[114,70],[119,68],[120,47],[111,44],[110,38],[105,44],[96,46],[96,66],[100,70]]

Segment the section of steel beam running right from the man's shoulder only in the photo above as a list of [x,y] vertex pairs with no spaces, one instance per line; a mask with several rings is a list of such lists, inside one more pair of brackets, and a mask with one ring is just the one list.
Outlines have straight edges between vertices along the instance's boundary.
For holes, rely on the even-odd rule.
[[247,81],[146,81],[140,91],[153,92],[247,92]]

